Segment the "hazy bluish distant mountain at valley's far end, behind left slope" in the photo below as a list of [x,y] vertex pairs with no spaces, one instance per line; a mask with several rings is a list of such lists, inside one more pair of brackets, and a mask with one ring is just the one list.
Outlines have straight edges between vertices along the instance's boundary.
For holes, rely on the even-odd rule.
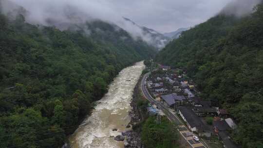
[[123,18],[124,20],[128,21],[128,22],[131,22],[131,24],[139,27],[142,29],[142,34],[143,34],[143,37],[147,37],[147,38],[144,38],[144,40],[148,40],[148,43],[150,43],[151,45],[153,45],[155,48],[157,49],[162,49],[170,40],[169,37],[165,37],[163,34],[153,30],[153,29],[150,29],[150,28],[147,28],[147,27],[144,27],[144,26],[140,26],[138,24],[136,24],[135,22],[133,22],[131,19],[128,19],[128,18]]

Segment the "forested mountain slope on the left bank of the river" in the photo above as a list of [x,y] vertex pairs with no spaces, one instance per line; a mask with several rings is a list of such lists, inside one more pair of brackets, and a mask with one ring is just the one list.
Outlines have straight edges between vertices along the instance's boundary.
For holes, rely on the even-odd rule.
[[60,147],[121,69],[156,53],[113,24],[82,25],[89,34],[0,15],[1,148]]

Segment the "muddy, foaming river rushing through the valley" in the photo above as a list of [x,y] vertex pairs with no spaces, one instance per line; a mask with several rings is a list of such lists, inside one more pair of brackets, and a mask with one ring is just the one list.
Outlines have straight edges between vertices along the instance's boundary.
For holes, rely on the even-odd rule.
[[[71,148],[124,148],[114,136],[127,130],[133,89],[145,65],[138,62],[123,69],[109,85],[109,92],[97,101],[94,111],[74,134],[70,136]],[[112,129],[118,129],[113,131]]]

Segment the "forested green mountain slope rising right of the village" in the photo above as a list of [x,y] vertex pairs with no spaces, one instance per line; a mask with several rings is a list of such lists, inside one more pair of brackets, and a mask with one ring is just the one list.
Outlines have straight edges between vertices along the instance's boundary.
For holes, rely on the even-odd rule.
[[201,97],[227,108],[243,148],[263,147],[263,5],[236,18],[218,15],[170,42],[157,62],[187,70]]

